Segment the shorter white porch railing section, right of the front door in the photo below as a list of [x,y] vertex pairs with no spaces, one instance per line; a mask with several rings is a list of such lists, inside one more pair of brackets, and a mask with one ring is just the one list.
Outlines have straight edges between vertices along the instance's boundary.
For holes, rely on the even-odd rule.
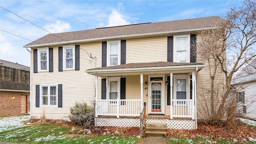
[[172,100],[171,119],[172,117],[193,118],[193,101]]

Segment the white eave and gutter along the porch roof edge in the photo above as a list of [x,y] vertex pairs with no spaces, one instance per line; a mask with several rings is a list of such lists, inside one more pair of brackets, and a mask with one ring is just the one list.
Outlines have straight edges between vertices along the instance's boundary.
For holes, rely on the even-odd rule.
[[[205,64],[194,64],[194,65],[183,65],[183,66],[157,66],[157,67],[143,67],[143,68],[116,68],[116,69],[104,69],[104,70],[86,70],[88,74],[97,75],[103,73],[116,73],[116,72],[148,72],[148,71],[159,71],[159,70],[182,70],[182,69],[195,69],[196,67],[201,70]],[[199,71],[198,70],[198,71]]]

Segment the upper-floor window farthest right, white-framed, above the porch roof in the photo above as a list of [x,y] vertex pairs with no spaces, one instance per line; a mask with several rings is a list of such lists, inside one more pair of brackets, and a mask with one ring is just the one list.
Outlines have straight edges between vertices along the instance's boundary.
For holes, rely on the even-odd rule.
[[174,35],[173,62],[190,62],[190,34]]

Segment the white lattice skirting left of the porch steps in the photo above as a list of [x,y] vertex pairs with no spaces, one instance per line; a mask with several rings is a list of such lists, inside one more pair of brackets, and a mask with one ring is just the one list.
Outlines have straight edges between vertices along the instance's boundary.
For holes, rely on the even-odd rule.
[[97,126],[140,127],[138,118],[96,118]]

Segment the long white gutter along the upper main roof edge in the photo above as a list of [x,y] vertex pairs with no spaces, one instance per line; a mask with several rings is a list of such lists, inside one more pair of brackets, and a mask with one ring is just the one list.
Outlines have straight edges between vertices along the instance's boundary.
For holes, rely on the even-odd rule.
[[40,46],[54,46],[54,45],[64,45],[64,44],[70,44],[70,43],[80,43],[80,42],[92,42],[92,41],[100,41],[100,40],[109,40],[109,39],[117,39],[117,38],[136,38],[136,37],[144,37],[144,36],[157,36],[157,35],[167,35],[167,34],[174,34],[174,33],[180,33],[180,32],[191,32],[191,31],[199,31],[199,30],[208,30],[208,29],[215,29],[217,27],[212,28],[196,28],[196,29],[189,29],[189,30],[174,30],[174,31],[167,31],[167,32],[151,32],[151,33],[145,33],[145,34],[130,34],[130,35],[123,35],[123,36],[110,36],[110,37],[104,37],[104,38],[88,38],[83,40],[70,40],[70,41],[64,41],[64,42],[52,42],[52,43],[45,43],[45,44],[34,44],[34,45],[26,45],[23,46],[24,48],[30,47],[40,47]]

